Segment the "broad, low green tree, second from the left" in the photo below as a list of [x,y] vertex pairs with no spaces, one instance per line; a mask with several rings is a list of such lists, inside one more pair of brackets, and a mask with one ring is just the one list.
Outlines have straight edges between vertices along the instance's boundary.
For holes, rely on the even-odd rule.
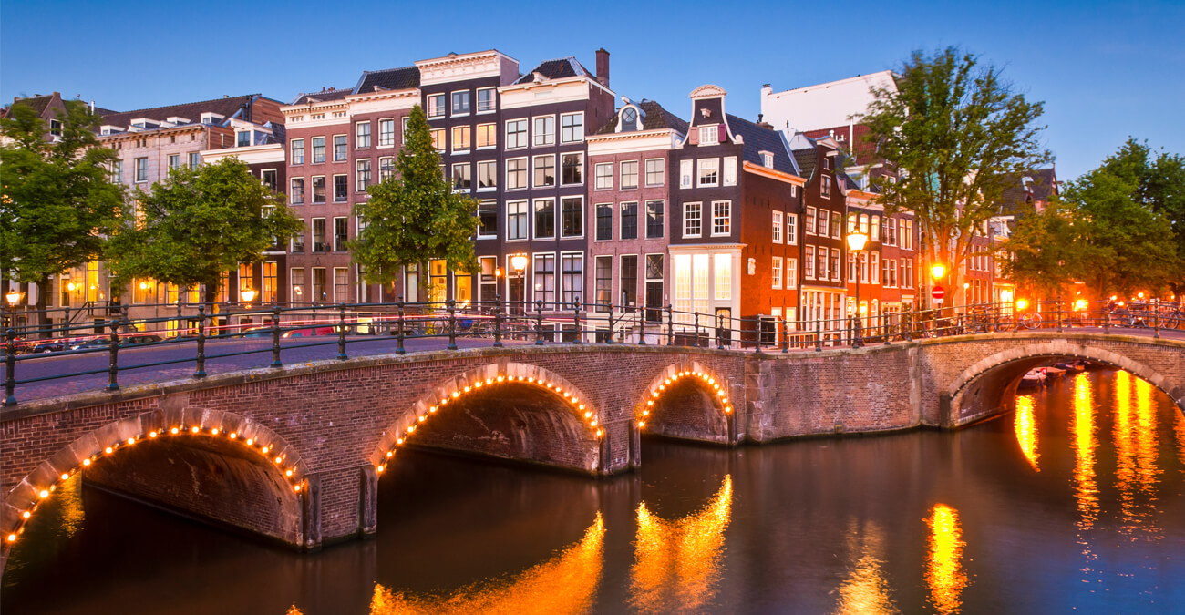
[[213,303],[223,271],[257,263],[263,251],[303,228],[275,194],[233,158],[196,169],[179,167],[168,179],[136,191],[136,212],[111,237],[108,250],[117,282],[150,277],[188,288],[205,284]]

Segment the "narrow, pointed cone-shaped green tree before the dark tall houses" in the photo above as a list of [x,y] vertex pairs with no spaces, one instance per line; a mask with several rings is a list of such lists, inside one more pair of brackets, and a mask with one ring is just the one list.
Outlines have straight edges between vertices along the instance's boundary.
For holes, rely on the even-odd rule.
[[371,186],[370,199],[354,206],[361,230],[348,246],[371,284],[393,283],[402,268],[416,265],[419,296],[427,297],[428,261],[443,260],[455,271],[476,269],[478,201],[453,192],[441,173],[419,105],[411,109],[405,137],[395,164],[397,177]]

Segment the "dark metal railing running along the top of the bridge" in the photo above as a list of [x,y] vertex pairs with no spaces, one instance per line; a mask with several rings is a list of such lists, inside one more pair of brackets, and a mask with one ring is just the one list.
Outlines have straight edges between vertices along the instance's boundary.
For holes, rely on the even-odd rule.
[[[115,391],[120,374],[132,371],[192,365],[192,377],[201,378],[211,361],[238,361],[233,363],[236,369],[280,367],[286,352],[289,358],[299,353],[300,360],[309,360],[308,348],[319,347],[326,352],[320,357],[314,352],[314,358],[346,359],[351,347],[370,354],[403,354],[461,346],[549,344],[788,353],[1038,328],[1090,327],[1103,333],[1147,329],[1155,337],[1164,329],[1185,329],[1183,306],[1162,302],[1043,300],[859,316],[835,314],[844,310],[838,301],[828,307],[820,306],[795,320],[775,314],[738,318],[728,310],[710,313],[705,306],[693,305],[588,303],[564,292],[556,301],[504,301],[495,296],[473,302],[212,305],[210,309],[200,305],[196,315],[137,320],[115,309],[101,323],[62,319],[51,327],[7,328],[2,345],[4,404],[17,404],[20,387],[52,380],[103,374],[105,390]],[[96,327],[102,327],[102,333],[96,333]],[[261,359],[243,363],[249,357]],[[56,360],[46,363],[43,358]]]

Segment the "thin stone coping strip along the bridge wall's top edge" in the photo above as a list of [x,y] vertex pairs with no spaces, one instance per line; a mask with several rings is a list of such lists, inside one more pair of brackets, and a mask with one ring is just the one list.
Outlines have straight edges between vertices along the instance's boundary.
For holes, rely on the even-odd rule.
[[821,351],[792,350],[782,352],[781,348],[767,348],[761,353],[751,350],[710,348],[694,346],[666,346],[666,345],[627,345],[627,344],[581,344],[581,345],[544,345],[544,346],[504,346],[504,347],[479,347],[462,350],[437,350],[417,351],[406,354],[370,354],[363,357],[351,357],[348,359],[322,359],[316,361],[301,361],[284,364],[280,367],[255,367],[250,370],[238,370],[218,374],[210,374],[201,378],[185,378],[164,380],[158,383],[136,384],[121,387],[116,391],[95,390],[81,393],[72,393],[60,397],[49,397],[20,402],[12,408],[0,409],[0,421],[12,421],[53,412],[62,412],[78,408],[89,408],[101,404],[164,397],[173,393],[188,392],[196,390],[212,389],[219,386],[235,386],[246,383],[267,382],[274,379],[292,378],[310,373],[326,371],[354,370],[359,367],[372,367],[384,365],[398,365],[409,363],[455,360],[480,357],[523,357],[536,354],[565,354],[571,352],[603,352],[603,353],[679,353],[699,355],[723,355],[744,358],[750,360],[803,360],[822,359],[833,357],[851,357],[856,354],[870,354],[886,351],[899,351],[902,348],[917,348],[923,346],[946,345],[966,342],[974,340],[1097,340],[1109,342],[1133,342],[1142,345],[1155,345],[1170,348],[1185,350],[1185,340],[1167,338],[1153,338],[1151,335],[1130,335],[1120,333],[1101,332],[1053,332],[1053,331],[1016,331],[995,332],[966,335],[948,335],[941,338],[922,338],[910,341],[895,341],[890,345],[883,342],[866,344],[859,348],[848,346],[825,347]]

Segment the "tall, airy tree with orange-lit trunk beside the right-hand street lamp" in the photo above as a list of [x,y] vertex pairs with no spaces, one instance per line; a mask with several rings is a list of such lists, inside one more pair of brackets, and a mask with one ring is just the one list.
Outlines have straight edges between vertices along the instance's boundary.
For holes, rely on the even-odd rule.
[[866,139],[901,175],[876,186],[888,213],[915,212],[925,257],[947,264],[959,290],[971,239],[986,235],[1004,188],[1051,160],[1038,142],[1045,127],[1035,124],[1043,105],[955,47],[915,51],[895,82],[896,90],[873,88],[863,118]]

